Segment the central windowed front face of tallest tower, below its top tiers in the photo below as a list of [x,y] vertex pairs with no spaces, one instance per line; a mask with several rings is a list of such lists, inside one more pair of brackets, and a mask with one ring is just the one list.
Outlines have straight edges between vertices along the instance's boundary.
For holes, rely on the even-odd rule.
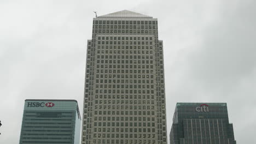
[[156,142],[152,39],[152,35],[97,35],[93,143]]

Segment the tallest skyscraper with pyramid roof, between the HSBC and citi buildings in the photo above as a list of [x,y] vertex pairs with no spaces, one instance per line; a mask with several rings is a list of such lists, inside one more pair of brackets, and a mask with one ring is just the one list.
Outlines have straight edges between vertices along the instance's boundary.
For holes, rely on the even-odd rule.
[[158,20],[98,16],[87,45],[82,143],[167,143]]

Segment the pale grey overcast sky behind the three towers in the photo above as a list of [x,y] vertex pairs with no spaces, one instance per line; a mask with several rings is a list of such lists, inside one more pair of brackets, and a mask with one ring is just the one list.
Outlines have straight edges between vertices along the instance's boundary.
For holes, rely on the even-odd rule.
[[177,102],[225,102],[237,143],[256,143],[255,5],[253,0],[1,0],[0,143],[19,143],[25,99],[75,99],[82,110],[92,11],[124,9],[158,18],[168,134]]

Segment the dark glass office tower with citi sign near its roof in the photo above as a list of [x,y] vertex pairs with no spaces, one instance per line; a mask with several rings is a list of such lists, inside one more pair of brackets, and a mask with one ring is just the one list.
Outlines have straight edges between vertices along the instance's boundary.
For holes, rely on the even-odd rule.
[[235,144],[226,103],[177,103],[171,144]]

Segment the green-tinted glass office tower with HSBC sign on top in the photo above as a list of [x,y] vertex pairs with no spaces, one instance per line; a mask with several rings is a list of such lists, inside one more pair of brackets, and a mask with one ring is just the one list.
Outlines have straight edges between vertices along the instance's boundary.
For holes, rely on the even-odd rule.
[[80,142],[76,100],[25,100],[20,144]]

